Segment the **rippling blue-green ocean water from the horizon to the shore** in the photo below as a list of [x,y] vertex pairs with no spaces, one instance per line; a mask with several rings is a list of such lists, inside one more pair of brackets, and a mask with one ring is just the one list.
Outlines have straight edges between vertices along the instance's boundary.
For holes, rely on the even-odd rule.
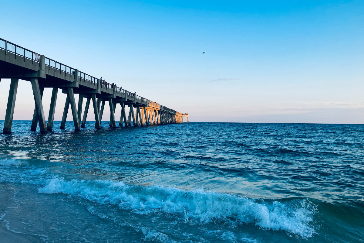
[[364,242],[364,125],[30,124],[0,135],[0,220],[35,242]]

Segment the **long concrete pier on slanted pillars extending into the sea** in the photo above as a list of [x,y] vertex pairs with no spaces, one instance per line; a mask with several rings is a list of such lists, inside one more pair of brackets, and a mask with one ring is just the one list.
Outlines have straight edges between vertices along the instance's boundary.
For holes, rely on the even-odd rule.
[[[182,114],[159,105],[157,102],[120,89],[110,83],[100,82],[100,79],[78,69],[0,38],[0,81],[5,78],[11,79],[11,83],[3,133],[11,132],[19,79],[32,83],[35,108],[31,131],[36,130],[39,121],[40,133],[42,134],[53,129],[58,89],[62,89],[62,93],[67,94],[60,129],[64,129],[70,106],[75,130],[84,128],[91,100],[96,129],[101,128],[100,124],[106,101],[110,108],[109,126],[113,128],[116,128],[114,113],[117,104],[120,104],[122,109],[119,126],[123,126],[123,121],[126,127],[131,126],[131,121],[134,126],[183,123],[182,117],[187,117],[187,122],[189,122],[188,114]],[[44,88],[53,89],[47,124],[42,103]],[[74,94],[79,94],[77,105]],[[86,107],[82,115],[83,98],[86,98]],[[129,107],[128,117],[126,117],[125,106]]]

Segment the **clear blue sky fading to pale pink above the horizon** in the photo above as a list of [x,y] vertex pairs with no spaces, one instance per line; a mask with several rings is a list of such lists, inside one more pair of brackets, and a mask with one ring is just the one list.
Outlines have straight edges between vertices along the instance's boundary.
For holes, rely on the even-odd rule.
[[[1,12],[1,38],[192,121],[364,121],[364,1],[6,1]],[[32,117],[29,87],[14,119]]]

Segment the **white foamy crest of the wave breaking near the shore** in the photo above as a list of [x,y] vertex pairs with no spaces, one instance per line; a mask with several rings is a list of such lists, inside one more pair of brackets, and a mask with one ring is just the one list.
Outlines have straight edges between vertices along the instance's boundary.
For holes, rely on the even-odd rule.
[[[156,211],[170,213],[189,224],[227,220],[235,224],[254,223],[267,230],[284,230],[302,238],[314,234],[310,223],[315,207],[308,200],[264,203],[203,189],[184,191],[162,185],[134,186],[109,180],[67,181],[59,177],[48,179],[39,192],[76,195],[99,204],[119,205],[140,214]],[[157,237],[151,234],[146,238]]]

